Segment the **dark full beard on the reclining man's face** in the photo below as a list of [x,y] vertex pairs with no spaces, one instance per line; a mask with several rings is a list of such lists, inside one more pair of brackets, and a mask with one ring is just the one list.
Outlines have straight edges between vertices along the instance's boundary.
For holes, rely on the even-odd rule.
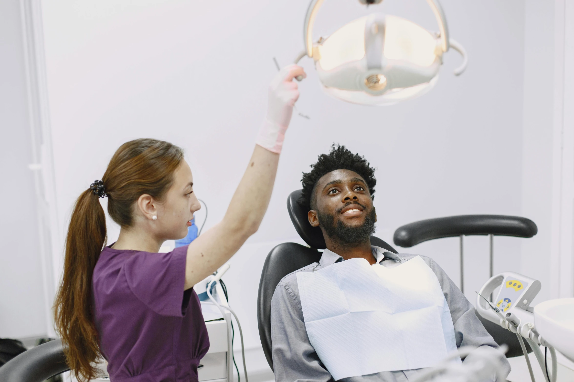
[[319,225],[325,230],[325,233],[332,241],[341,245],[355,245],[370,240],[370,235],[375,233],[375,207],[364,217],[364,222],[358,227],[347,226],[341,220],[335,225],[335,216],[329,214],[317,213]]

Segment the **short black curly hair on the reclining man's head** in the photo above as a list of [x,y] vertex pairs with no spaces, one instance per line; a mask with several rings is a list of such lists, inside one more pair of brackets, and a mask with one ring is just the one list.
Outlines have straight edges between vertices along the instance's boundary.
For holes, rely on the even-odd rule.
[[321,176],[335,170],[351,170],[359,174],[367,182],[371,197],[374,198],[375,184],[377,184],[375,169],[370,167],[370,163],[363,156],[348,151],[343,145],[333,143],[331,152],[319,155],[317,163],[312,164],[311,168],[311,172],[303,173],[301,179],[303,192],[299,199],[299,203],[309,211],[313,209],[312,204],[315,204],[313,193],[317,181]]

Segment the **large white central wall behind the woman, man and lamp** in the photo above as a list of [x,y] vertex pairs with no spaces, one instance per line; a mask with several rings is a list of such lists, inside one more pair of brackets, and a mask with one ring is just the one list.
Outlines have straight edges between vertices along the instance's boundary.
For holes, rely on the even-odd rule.
[[[274,243],[297,240],[286,196],[300,188],[301,172],[333,141],[378,168],[375,207],[383,239],[390,241],[398,226],[414,220],[522,214],[525,5],[441,3],[470,64],[455,77],[460,57],[446,54],[439,83],[419,99],[387,108],[346,104],[325,96],[311,60],[301,62],[309,76],[300,84],[297,107],[311,120],[293,117],[267,215],[226,275],[247,346],[259,345],[254,302],[265,255]],[[77,195],[102,177],[120,144],[136,137],[186,149],[197,195],[210,208],[207,227],[218,222],[265,113],[266,87],[276,73],[272,58],[285,65],[302,49],[307,5],[42,2],[60,248]],[[381,9],[436,29],[422,0],[387,0]],[[358,2],[325,2],[316,35],[365,12]],[[114,235],[117,227],[111,227],[111,240]],[[495,239],[495,273],[521,270],[527,240]],[[432,256],[458,281],[457,238],[406,251]],[[467,238],[471,300],[488,277],[487,259],[488,239]]]

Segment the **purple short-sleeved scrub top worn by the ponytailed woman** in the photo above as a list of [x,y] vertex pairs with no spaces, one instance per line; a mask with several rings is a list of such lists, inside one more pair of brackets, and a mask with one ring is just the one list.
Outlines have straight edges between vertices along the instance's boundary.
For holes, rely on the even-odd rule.
[[184,292],[186,258],[187,246],[100,254],[94,316],[111,381],[197,382],[210,341],[197,294]]

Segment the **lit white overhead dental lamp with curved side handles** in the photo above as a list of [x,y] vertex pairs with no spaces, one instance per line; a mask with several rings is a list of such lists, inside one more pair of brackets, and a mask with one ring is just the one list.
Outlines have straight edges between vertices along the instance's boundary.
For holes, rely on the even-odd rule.
[[[439,22],[432,33],[407,19],[373,13],[340,27],[313,42],[313,24],[324,0],[311,0],[305,16],[304,56],[315,61],[325,92],[355,104],[392,105],[432,89],[439,78],[443,53],[449,48],[463,56],[455,69],[464,72],[467,54],[449,38],[447,20],[438,0],[427,0]],[[382,0],[359,0],[370,5]]]

